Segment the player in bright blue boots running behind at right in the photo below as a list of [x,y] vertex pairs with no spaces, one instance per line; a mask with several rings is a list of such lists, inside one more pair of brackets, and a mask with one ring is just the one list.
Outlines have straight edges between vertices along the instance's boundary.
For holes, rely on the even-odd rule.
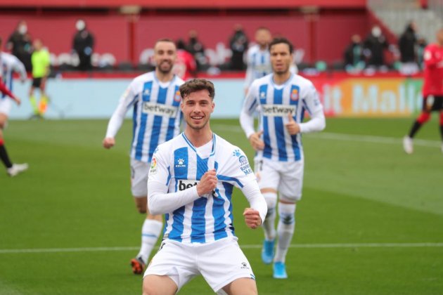
[[[326,126],[323,106],[311,81],[290,72],[293,45],[285,38],[269,44],[273,72],[252,82],[240,114],[240,124],[257,151],[255,173],[267,201],[262,260],[274,260],[274,277],[288,277],[285,256],[295,229],[295,206],[302,197],[304,154],[302,133]],[[260,107],[259,131],[253,112]],[[308,112],[311,119],[303,122]],[[278,193],[278,228],[274,228]],[[274,244],[278,245],[274,256]]]

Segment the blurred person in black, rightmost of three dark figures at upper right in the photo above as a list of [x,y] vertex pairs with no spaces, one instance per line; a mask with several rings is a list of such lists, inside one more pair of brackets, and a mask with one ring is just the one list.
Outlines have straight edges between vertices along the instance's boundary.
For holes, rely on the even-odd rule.
[[418,64],[416,63],[416,23],[409,22],[399,39],[400,73],[402,74],[416,74],[418,72]]

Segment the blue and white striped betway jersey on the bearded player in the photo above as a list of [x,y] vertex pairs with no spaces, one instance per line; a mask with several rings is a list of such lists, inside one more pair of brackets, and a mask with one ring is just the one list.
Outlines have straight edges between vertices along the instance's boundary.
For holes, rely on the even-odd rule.
[[155,72],[136,77],[120,98],[108,124],[106,137],[115,137],[124,115],[133,107],[131,158],[150,162],[155,148],[180,132],[182,114],[179,87],[183,83],[176,76],[172,81],[162,83],[155,77]]

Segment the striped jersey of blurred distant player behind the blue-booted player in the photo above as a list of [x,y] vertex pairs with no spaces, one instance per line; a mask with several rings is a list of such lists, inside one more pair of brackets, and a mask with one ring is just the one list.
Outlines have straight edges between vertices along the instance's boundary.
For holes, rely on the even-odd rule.
[[251,46],[246,53],[246,65],[248,66],[245,77],[245,88],[247,89],[252,81],[272,72],[268,48],[261,50],[257,44]]

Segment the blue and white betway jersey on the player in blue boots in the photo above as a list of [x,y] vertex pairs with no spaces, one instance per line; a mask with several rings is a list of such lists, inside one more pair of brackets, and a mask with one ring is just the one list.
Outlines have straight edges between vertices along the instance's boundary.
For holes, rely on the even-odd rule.
[[[281,162],[298,161],[303,157],[301,133],[325,128],[323,106],[308,79],[291,74],[284,84],[276,85],[273,77],[274,74],[269,74],[252,83],[240,114],[240,124],[248,138],[255,133],[251,118],[260,106],[259,130],[263,131],[264,150],[259,150],[257,157]],[[311,119],[303,123],[305,111]],[[285,128],[289,114],[300,125],[300,133],[296,135],[290,135]]]

